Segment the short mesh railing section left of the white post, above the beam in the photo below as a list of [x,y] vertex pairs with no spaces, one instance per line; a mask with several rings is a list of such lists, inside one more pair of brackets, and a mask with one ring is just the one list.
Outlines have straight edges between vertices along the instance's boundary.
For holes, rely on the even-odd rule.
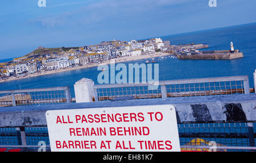
[[71,93],[68,86],[0,91],[0,107],[56,103],[71,103]]

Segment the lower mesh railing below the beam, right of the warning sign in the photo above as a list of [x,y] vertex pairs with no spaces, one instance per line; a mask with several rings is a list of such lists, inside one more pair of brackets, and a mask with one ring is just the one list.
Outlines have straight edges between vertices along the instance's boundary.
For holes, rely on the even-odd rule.
[[213,145],[223,152],[255,150],[255,127],[256,123],[178,124],[181,150],[209,151]]

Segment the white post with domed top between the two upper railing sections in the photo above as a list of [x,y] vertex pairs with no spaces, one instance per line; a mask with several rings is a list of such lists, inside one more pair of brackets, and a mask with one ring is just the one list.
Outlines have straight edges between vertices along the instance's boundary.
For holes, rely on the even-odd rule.
[[94,82],[88,78],[82,78],[74,85],[76,103],[93,102],[96,99],[94,94]]

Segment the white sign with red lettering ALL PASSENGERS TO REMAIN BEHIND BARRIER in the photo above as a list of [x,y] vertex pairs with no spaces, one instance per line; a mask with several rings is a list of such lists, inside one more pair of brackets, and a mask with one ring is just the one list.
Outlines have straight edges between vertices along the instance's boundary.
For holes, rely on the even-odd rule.
[[46,112],[51,151],[180,151],[172,105]]

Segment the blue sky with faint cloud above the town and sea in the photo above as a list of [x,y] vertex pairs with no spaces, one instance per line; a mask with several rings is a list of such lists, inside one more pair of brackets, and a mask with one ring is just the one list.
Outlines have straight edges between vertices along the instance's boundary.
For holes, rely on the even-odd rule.
[[256,22],[255,0],[8,0],[0,2],[0,59],[40,45],[73,47]]

